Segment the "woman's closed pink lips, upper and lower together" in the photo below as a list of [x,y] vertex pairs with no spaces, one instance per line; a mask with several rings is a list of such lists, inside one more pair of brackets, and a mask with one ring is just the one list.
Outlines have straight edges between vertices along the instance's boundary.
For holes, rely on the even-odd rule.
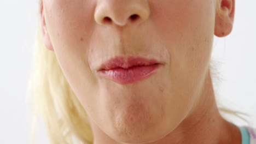
[[155,59],[142,57],[116,57],[101,65],[98,73],[120,84],[146,79],[159,68],[161,63]]

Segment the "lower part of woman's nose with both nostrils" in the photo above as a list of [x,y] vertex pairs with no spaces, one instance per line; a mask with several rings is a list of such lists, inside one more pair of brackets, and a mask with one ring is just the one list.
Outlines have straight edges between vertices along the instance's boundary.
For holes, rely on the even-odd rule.
[[149,17],[148,0],[97,0],[94,19],[100,25],[125,26]]

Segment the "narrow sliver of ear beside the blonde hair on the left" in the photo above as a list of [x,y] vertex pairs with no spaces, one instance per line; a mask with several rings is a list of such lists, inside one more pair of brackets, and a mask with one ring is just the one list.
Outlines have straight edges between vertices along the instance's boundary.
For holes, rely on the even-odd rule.
[[43,2],[40,6],[40,24],[41,24],[41,28],[42,28],[42,37],[43,37],[43,42],[45,47],[48,50],[54,51],[53,49],[53,44],[51,44],[51,39],[50,36],[48,34],[48,29],[45,23],[45,17],[44,17],[44,6],[43,6]]

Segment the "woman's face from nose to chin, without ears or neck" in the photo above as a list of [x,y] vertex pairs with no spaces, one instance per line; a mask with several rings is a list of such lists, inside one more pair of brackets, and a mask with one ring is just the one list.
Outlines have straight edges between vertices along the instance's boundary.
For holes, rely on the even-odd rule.
[[[43,5],[46,35],[63,73],[104,133],[122,142],[154,141],[189,115],[210,64],[213,0],[43,0]],[[156,67],[146,67],[146,75],[130,68],[127,76],[123,65],[137,57],[154,59]],[[113,58],[118,59],[101,67]]]

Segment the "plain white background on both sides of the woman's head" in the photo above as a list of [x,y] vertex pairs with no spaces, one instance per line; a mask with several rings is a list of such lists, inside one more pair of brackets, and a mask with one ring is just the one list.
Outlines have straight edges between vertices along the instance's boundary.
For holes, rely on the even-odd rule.
[[[32,64],[37,1],[3,0],[0,4],[0,142],[28,143],[31,109],[26,102]],[[218,97],[235,110],[252,115],[256,127],[256,1],[236,1],[233,32],[215,38],[213,58],[221,81]],[[237,125],[243,125],[235,119]],[[39,123],[36,143],[49,143]]]

